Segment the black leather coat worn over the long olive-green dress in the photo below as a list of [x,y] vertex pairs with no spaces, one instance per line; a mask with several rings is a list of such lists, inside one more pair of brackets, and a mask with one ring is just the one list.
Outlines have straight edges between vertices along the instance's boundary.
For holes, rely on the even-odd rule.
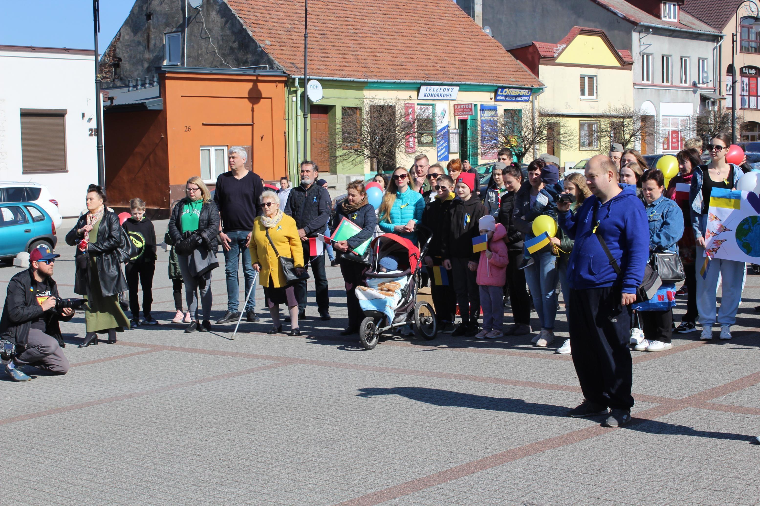
[[[81,215],[68,234],[66,234],[66,244],[76,246],[78,240],[84,235],[79,234],[78,230],[87,225],[87,213]],[[98,278],[100,280],[100,294],[88,293],[90,289],[90,262],[87,262],[87,268],[81,269],[77,262],[76,275],[74,276],[74,293],[87,295],[87,297],[109,297],[127,291],[127,280],[122,272],[122,264],[119,257],[116,256],[116,250],[122,237],[122,226],[119,225],[119,216],[106,209],[103,212],[103,218],[100,218],[100,227],[97,231],[97,242],[87,244],[87,252],[94,256],[97,265]],[[74,258],[84,253],[77,248]]]

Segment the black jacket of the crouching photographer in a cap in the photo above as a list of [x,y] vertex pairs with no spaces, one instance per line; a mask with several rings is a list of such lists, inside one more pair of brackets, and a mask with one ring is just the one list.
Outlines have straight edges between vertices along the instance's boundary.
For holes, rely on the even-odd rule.
[[[42,306],[35,298],[36,292],[32,281],[32,269],[19,272],[11,278],[11,281],[8,281],[8,292],[5,296],[5,306],[2,308],[2,320],[0,320],[0,335],[14,341],[18,346],[26,346],[31,322],[41,316],[45,320],[45,333],[58,339],[60,344],[63,338],[58,322],[60,320],[68,322],[74,315],[62,316],[55,313],[55,310],[43,313]],[[40,283],[35,281],[34,284]],[[59,298],[58,285],[55,284],[53,278],[47,278],[43,284],[50,289],[52,297]]]

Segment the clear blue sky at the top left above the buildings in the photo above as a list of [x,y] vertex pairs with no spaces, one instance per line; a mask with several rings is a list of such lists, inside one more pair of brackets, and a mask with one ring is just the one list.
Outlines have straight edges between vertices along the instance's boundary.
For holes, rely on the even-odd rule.
[[[100,0],[98,49],[122,27],[135,0]],[[2,2],[0,45],[93,49],[92,0]]]

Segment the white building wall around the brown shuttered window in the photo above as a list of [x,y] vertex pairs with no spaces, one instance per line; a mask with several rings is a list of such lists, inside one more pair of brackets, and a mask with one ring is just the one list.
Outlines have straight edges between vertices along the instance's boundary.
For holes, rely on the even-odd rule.
[[[0,181],[45,184],[65,217],[79,215],[87,185],[97,183],[97,137],[90,137],[96,123],[94,65],[91,52],[0,48]],[[22,108],[67,111],[67,172],[22,173]]]

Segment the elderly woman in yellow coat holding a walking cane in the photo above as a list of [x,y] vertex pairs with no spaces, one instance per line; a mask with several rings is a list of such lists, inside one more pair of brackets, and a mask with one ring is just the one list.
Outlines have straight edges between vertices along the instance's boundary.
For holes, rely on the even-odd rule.
[[290,335],[301,335],[298,328],[296,293],[293,285],[287,286],[283,268],[277,259],[278,255],[293,258],[296,271],[300,274],[304,270],[303,247],[296,220],[283,214],[280,209],[280,197],[274,191],[267,190],[261,193],[261,207],[264,209],[264,214],[258,216],[253,222],[249,250],[251,250],[253,268],[258,272],[258,279],[264,287],[264,297],[274,324],[267,334],[282,332],[280,304],[287,304],[290,313]]

